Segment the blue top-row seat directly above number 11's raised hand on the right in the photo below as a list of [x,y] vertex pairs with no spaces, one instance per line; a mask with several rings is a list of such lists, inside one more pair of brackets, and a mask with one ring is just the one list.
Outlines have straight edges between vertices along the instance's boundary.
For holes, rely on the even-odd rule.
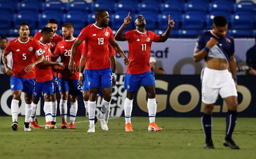
[[161,11],[184,11],[185,2],[183,1],[167,1],[161,4]]

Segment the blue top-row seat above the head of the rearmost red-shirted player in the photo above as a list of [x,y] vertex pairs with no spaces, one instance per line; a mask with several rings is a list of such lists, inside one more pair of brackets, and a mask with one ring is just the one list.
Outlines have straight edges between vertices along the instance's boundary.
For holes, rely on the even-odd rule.
[[66,3],[63,3],[62,1],[43,2],[42,11],[57,11],[63,13],[66,11]]

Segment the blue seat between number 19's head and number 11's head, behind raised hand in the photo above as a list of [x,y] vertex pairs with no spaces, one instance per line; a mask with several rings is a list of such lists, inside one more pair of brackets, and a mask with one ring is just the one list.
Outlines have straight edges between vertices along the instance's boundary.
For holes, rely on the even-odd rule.
[[[131,15],[133,16],[133,15]],[[127,11],[119,11],[115,14],[111,15],[111,28],[112,29],[119,29],[124,22],[124,18],[127,17]],[[126,25],[126,29],[135,28],[134,27],[134,18],[132,17],[132,22]]]

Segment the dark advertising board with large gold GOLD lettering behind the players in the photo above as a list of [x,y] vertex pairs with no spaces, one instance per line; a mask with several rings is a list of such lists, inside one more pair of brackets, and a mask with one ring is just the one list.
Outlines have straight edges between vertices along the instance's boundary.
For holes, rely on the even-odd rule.
[[[11,115],[11,90],[9,76],[0,75],[0,116]],[[165,117],[199,117],[202,112],[201,84],[199,75],[155,75],[157,93],[157,116]],[[256,117],[255,76],[238,76],[238,112],[239,117]],[[111,117],[124,116],[124,75],[117,75],[117,84],[113,88]],[[58,101],[60,97],[58,95]],[[96,114],[100,110],[100,98],[97,100]],[[68,108],[69,108],[68,103]],[[24,97],[20,102],[19,113],[24,115]],[[214,116],[226,116],[226,103],[219,99],[214,107]],[[68,112],[69,113],[69,112]],[[37,115],[43,116],[43,101],[37,108]],[[81,95],[78,98],[78,116],[85,116],[85,107]],[[59,116],[59,108],[58,108]],[[134,98],[132,116],[148,116],[147,97],[143,87]]]

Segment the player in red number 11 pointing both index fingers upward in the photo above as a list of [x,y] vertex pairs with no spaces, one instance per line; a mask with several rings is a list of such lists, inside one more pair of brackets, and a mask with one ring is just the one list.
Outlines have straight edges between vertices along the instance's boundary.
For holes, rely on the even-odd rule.
[[124,116],[126,118],[126,131],[132,132],[132,124],[130,116],[132,114],[132,101],[134,95],[139,90],[140,85],[145,88],[147,92],[147,108],[149,110],[149,131],[161,131],[162,128],[155,124],[155,114],[157,112],[157,102],[155,100],[155,77],[150,69],[150,51],[152,42],[164,42],[170,36],[171,29],[175,22],[168,17],[168,28],[163,35],[157,35],[151,31],[146,30],[146,20],[143,15],[139,15],[135,19],[135,30],[124,32],[126,25],[130,23],[130,12],[124,19],[124,23],[117,30],[116,40],[128,41],[129,60],[130,64],[127,66],[124,88],[127,90],[126,99],[124,100]]

